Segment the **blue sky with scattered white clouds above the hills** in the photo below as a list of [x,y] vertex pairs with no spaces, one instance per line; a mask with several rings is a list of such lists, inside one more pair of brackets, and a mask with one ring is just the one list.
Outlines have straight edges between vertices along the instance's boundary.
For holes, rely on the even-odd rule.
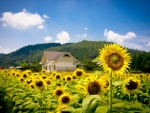
[[0,53],[82,40],[150,51],[149,5],[150,0],[0,0]]

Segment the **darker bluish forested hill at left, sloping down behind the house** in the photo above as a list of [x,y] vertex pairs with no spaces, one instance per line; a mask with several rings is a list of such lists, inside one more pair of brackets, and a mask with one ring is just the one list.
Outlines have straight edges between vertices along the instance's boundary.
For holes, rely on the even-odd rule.
[[[14,51],[9,54],[0,56],[0,66],[8,67],[8,66],[17,66],[22,61],[26,61],[27,63],[32,61],[40,60],[43,54],[43,51],[50,47],[61,46],[60,43],[44,43],[44,44],[35,44],[28,45],[20,48],[17,51]],[[31,52],[30,52],[31,51]]]

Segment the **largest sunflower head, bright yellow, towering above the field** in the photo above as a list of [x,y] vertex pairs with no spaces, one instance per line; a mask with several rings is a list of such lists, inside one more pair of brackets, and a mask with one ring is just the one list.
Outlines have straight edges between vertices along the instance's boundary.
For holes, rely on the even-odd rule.
[[127,49],[118,44],[104,45],[100,50],[99,60],[105,71],[114,74],[125,73],[131,63],[131,57]]

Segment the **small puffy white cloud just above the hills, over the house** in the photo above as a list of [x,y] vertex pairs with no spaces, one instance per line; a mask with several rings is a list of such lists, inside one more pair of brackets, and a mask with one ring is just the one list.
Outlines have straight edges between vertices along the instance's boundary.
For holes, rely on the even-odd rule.
[[65,44],[70,40],[70,36],[66,31],[61,31],[57,34],[57,40],[55,42]]

